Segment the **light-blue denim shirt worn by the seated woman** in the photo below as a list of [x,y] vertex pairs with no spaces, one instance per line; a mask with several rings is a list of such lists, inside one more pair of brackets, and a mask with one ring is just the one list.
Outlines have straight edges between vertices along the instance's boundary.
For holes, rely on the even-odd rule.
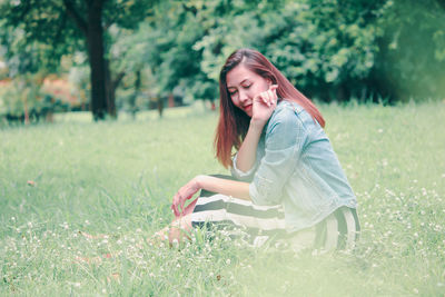
[[281,100],[264,128],[256,162],[235,178],[249,181],[255,205],[283,205],[289,232],[312,227],[357,199],[319,123],[298,103]]

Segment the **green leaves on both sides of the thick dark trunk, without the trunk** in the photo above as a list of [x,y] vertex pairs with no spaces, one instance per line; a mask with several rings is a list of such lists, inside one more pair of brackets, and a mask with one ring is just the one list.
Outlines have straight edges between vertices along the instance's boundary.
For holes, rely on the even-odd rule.
[[[111,24],[123,29],[138,27],[147,17],[154,1],[105,1],[102,22],[105,29]],[[27,57],[27,61],[18,61],[22,72],[38,69],[58,70],[60,59],[65,55],[85,51],[86,36],[71,13],[87,17],[88,1],[26,0],[2,1],[0,3],[1,41],[8,47],[6,58],[16,55]],[[87,19],[82,23],[86,26]],[[31,56],[30,56],[31,55]],[[18,58],[16,60],[19,60]],[[33,67],[31,67],[31,65]]]

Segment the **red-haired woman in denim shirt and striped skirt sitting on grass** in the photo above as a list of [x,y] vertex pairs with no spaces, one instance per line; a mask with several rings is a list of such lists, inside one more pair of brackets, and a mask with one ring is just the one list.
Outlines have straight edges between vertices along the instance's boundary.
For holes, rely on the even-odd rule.
[[286,235],[300,247],[352,248],[357,201],[317,108],[251,49],[228,57],[219,91],[216,156],[233,177],[187,182],[174,197],[175,221],[157,235],[171,242],[194,227],[238,227],[254,244]]

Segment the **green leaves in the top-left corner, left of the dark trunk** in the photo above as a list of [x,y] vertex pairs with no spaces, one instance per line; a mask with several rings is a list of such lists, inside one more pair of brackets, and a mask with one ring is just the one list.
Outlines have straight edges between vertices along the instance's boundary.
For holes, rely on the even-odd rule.
[[0,11],[0,41],[7,48],[11,77],[57,71],[63,55],[83,46],[62,1],[2,1]]

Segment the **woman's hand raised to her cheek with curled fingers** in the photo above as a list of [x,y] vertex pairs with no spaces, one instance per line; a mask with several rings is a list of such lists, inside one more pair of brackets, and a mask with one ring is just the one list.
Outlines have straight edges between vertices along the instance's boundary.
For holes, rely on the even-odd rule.
[[254,122],[264,125],[270,118],[277,107],[277,85],[271,85],[267,91],[260,92],[254,97],[253,116]]

